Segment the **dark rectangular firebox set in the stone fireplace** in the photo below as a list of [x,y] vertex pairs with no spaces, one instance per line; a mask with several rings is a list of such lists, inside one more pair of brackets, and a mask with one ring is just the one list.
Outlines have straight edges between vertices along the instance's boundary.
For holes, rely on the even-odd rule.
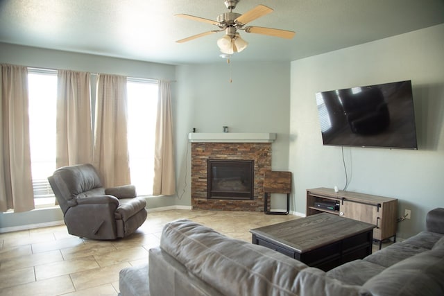
[[207,159],[207,198],[253,200],[254,160]]

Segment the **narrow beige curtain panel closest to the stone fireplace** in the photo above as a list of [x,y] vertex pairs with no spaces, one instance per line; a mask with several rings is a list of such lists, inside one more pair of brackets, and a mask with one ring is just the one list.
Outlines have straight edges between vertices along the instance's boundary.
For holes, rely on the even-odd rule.
[[153,195],[176,193],[170,83],[160,81],[155,127]]

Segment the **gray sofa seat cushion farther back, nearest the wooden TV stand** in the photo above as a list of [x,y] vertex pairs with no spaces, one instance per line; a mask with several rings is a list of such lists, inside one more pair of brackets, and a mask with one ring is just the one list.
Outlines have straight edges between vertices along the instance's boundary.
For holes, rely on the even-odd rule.
[[407,243],[393,243],[393,245],[384,247],[384,249],[366,256],[364,260],[388,267],[427,250],[429,249],[417,247],[416,245],[409,245]]

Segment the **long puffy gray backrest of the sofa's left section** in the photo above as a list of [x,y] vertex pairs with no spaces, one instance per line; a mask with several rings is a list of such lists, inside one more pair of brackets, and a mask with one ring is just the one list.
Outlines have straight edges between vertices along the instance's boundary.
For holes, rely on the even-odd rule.
[[[302,291],[303,295],[318,295],[319,290],[340,292],[324,295],[358,295],[361,289],[328,279],[316,268],[323,277],[312,272],[298,277],[308,268],[304,263],[260,245],[228,238],[190,220],[165,225],[160,247],[223,295],[284,296],[300,295]],[[324,286],[317,287],[316,292],[307,288],[313,284]]]

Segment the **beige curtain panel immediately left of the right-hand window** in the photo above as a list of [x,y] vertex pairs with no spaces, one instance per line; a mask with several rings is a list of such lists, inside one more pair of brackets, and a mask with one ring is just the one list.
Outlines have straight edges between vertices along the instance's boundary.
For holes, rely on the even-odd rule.
[[107,187],[130,184],[127,108],[126,77],[100,74],[93,164]]

